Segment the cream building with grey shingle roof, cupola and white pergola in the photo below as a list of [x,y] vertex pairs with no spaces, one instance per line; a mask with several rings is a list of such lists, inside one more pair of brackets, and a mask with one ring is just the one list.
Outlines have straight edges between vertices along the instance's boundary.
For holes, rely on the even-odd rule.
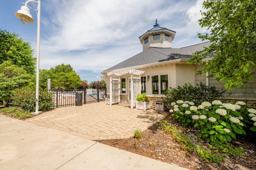
[[[185,83],[192,85],[206,84],[224,89],[224,82],[216,82],[207,75],[196,76],[196,70],[202,69],[197,64],[188,64],[186,61],[195,51],[208,47],[210,42],[200,43],[183,48],[172,48],[176,32],[160,27],[154,27],[139,37],[143,51],[107,70],[101,72],[106,81],[107,94],[110,105],[127,103],[131,108],[135,106],[138,93],[146,92],[154,105],[155,100],[162,100],[163,92],[169,87],[176,88]],[[208,56],[210,60],[214,56]],[[255,68],[254,68],[255,69]],[[255,102],[256,82],[251,80],[246,87],[227,90],[228,100],[242,100],[249,104]]]

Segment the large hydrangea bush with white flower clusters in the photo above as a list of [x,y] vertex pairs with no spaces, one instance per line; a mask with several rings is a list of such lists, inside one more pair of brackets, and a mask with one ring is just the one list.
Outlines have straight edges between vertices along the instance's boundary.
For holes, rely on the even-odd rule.
[[231,142],[238,135],[246,135],[248,129],[256,131],[256,109],[247,107],[244,102],[230,104],[214,100],[195,106],[193,102],[178,100],[170,106],[174,119],[183,126],[190,124],[200,128],[198,136],[207,142]]

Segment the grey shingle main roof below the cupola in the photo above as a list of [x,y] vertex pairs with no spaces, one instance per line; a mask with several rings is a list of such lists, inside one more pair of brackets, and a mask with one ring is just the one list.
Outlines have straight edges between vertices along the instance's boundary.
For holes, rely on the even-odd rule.
[[[127,68],[133,66],[140,66],[144,64],[159,63],[163,61],[171,61],[174,59],[190,59],[192,53],[201,51],[204,47],[208,47],[210,42],[191,45],[183,48],[156,48],[150,47],[141,53],[119,63],[105,71],[115,70],[120,68]],[[209,56],[213,57],[213,56]]]

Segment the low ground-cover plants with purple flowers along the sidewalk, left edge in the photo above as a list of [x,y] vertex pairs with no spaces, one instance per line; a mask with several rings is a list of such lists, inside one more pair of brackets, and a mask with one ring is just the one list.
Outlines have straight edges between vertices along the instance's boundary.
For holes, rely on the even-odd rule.
[[13,116],[18,119],[25,119],[34,116],[30,111],[26,111],[20,107],[4,107],[0,109],[0,112],[4,115]]

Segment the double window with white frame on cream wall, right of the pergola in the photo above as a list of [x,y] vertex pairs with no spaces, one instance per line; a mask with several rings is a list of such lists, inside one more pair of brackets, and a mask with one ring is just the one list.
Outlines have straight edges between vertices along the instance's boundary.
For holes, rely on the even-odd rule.
[[[160,92],[159,89],[161,89]],[[168,75],[152,76],[152,94],[163,94],[166,90],[168,90]]]

